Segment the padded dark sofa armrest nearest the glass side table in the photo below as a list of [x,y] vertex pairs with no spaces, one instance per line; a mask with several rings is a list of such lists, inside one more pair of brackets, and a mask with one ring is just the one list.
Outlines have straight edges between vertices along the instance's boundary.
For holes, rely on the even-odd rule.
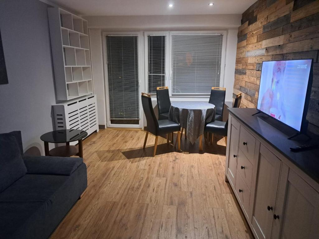
[[71,175],[83,163],[83,158],[53,156],[23,156],[27,173]]

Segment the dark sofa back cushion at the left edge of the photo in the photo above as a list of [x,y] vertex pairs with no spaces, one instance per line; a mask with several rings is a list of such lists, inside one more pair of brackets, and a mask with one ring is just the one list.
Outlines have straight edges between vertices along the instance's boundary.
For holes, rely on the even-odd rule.
[[0,192],[26,174],[14,134],[0,134]]

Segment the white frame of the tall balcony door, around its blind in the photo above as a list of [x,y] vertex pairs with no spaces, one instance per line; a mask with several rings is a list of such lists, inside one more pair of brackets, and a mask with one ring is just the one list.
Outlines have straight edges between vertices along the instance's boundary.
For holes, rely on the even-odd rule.
[[[108,56],[106,54],[107,46],[106,46],[106,37],[107,36],[137,36],[137,64],[138,64],[138,85],[139,85],[139,124],[112,124],[110,118],[110,107],[109,107],[109,94],[108,94]],[[143,32],[102,32],[102,55],[103,55],[103,66],[104,66],[104,83],[105,83],[105,107],[106,107],[106,124],[107,127],[120,127],[120,128],[143,128],[144,127],[144,112],[141,101],[141,92],[144,91],[141,82],[145,82],[144,80],[144,69],[143,69]]]

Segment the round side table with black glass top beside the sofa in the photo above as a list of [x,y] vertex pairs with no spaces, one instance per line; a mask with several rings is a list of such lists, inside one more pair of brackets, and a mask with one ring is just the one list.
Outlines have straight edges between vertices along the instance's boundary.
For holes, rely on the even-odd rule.
[[[44,152],[46,156],[70,157],[79,156],[83,158],[82,140],[87,132],[79,129],[61,129],[42,134],[40,139],[44,141]],[[78,147],[70,145],[70,142],[78,141]],[[49,150],[49,143],[66,143]]]

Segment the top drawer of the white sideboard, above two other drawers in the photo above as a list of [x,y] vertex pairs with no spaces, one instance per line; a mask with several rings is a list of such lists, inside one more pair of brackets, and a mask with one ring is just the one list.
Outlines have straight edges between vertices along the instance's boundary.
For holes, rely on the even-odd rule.
[[250,163],[252,163],[254,159],[255,144],[255,137],[249,134],[249,132],[244,127],[241,127],[239,136],[239,148],[248,158]]

